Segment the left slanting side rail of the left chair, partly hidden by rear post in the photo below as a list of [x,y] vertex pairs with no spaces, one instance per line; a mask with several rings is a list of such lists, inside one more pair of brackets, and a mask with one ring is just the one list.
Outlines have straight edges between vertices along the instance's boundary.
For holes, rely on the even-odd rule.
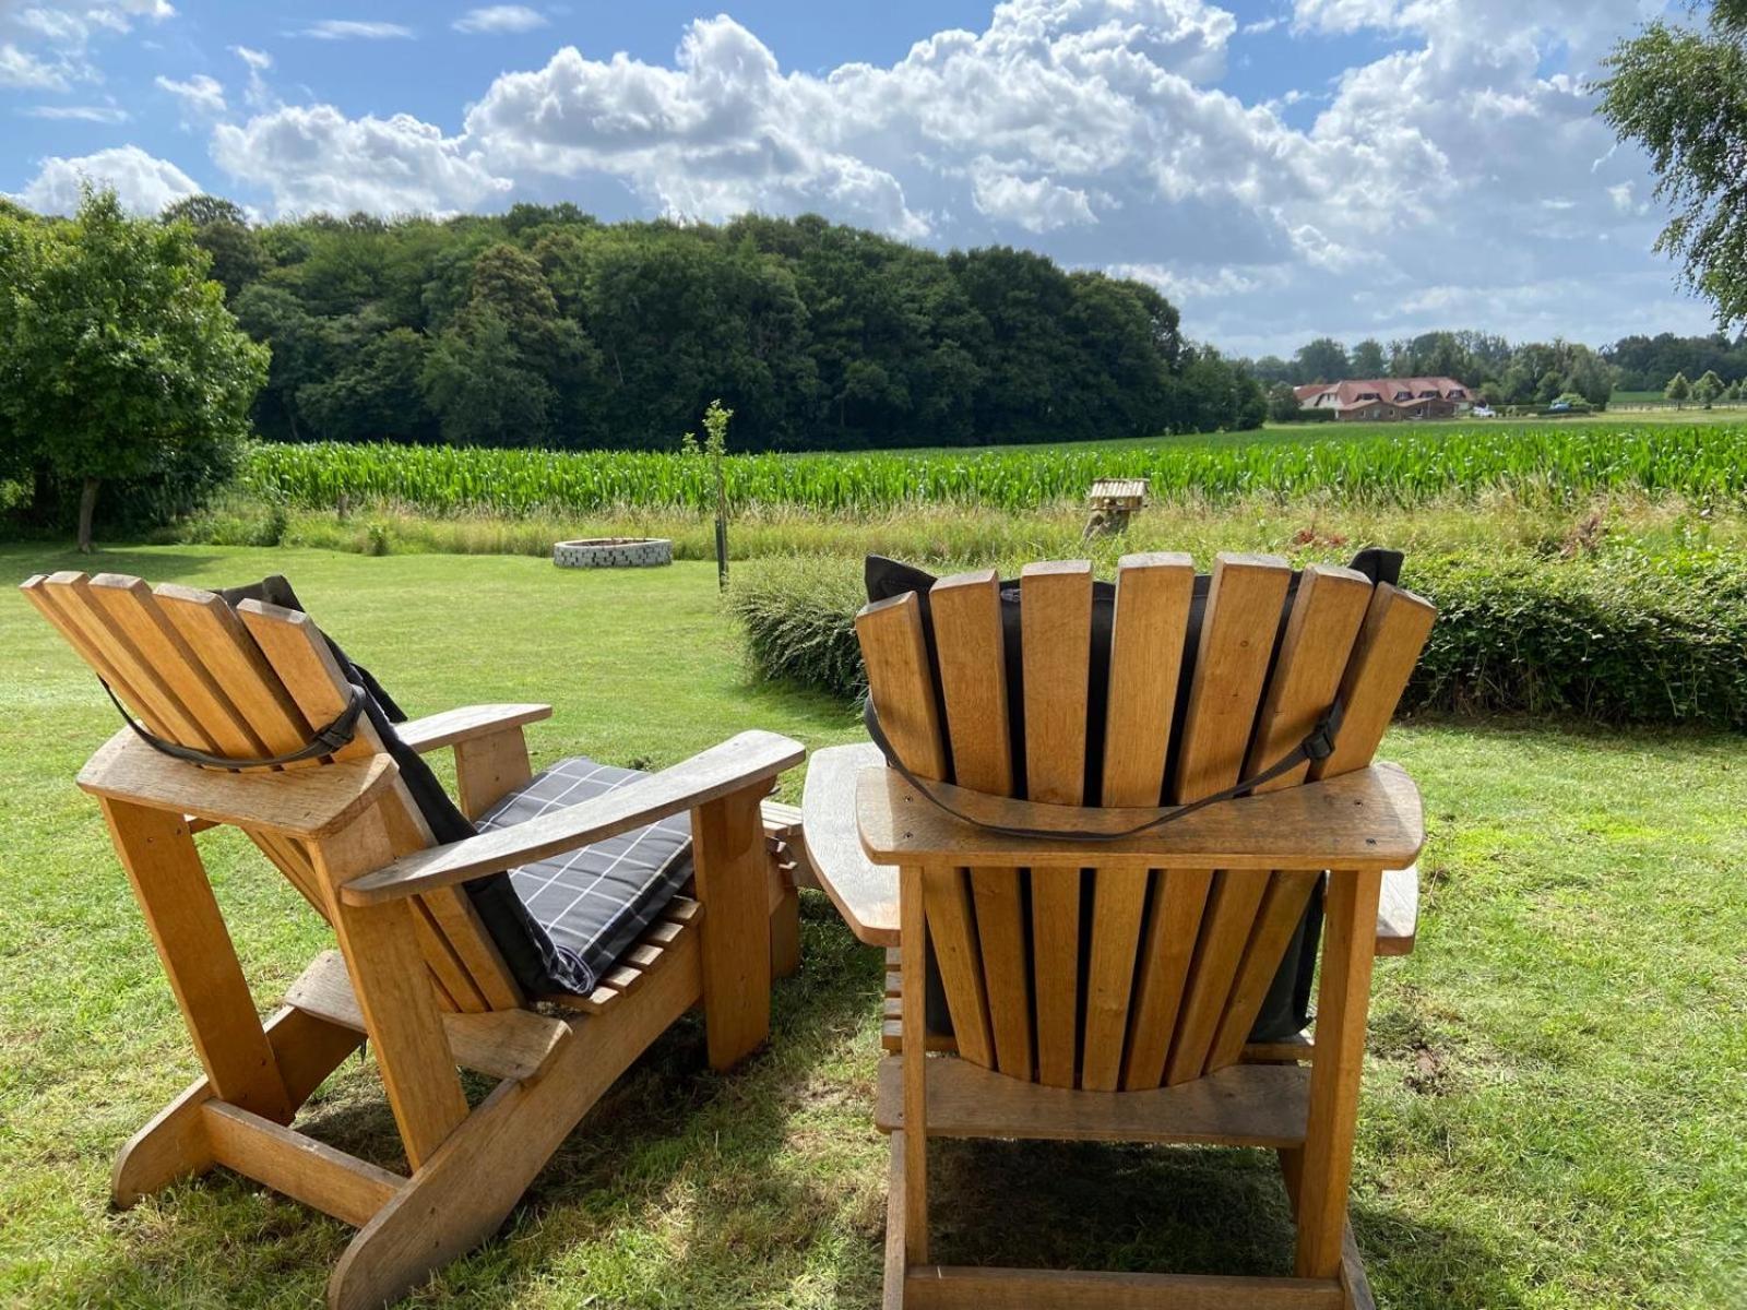
[[[363,1041],[360,1032],[288,1006],[267,1020],[266,1032],[293,1111]],[[128,1141],[110,1170],[110,1196],[115,1205],[128,1209],[142,1196],[213,1167],[213,1149],[201,1113],[201,1106],[211,1099],[211,1079],[201,1078]]]

